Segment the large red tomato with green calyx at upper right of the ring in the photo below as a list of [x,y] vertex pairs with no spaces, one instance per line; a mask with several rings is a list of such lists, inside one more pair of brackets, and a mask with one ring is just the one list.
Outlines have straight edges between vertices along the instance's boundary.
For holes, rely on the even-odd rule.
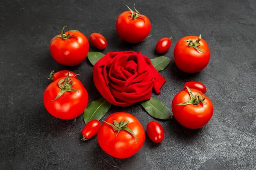
[[204,69],[210,60],[208,44],[198,36],[186,36],[174,47],[174,62],[186,73],[197,73]]

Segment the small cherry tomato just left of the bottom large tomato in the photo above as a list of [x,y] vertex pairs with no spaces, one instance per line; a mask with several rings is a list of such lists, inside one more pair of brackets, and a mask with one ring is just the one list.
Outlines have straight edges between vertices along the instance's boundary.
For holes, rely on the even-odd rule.
[[83,139],[90,139],[91,137],[97,135],[100,128],[101,122],[99,120],[89,121],[82,130]]

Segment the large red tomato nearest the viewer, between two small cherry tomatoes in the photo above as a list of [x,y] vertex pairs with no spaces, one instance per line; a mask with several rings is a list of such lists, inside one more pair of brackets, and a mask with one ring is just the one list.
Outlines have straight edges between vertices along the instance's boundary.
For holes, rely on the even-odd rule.
[[[122,128],[118,132],[120,126]],[[137,153],[144,144],[145,132],[136,117],[129,113],[117,112],[110,115],[102,124],[98,132],[98,141],[102,150],[112,157],[128,158]]]

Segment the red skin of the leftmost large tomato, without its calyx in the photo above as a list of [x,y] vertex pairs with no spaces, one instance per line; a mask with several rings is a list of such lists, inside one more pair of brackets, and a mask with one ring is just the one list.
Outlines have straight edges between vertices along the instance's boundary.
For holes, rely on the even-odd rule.
[[46,110],[54,117],[60,119],[74,119],[81,115],[88,104],[88,93],[79,79],[73,78],[72,88],[77,91],[67,91],[61,97],[55,99],[61,88],[58,82],[61,77],[47,86],[43,94],[43,103]]

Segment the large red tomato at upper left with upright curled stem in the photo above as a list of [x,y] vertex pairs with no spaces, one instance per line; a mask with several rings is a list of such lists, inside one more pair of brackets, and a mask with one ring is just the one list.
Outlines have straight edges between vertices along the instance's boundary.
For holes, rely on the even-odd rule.
[[89,52],[88,39],[83,33],[75,30],[56,35],[50,43],[50,52],[56,62],[65,66],[80,64]]

